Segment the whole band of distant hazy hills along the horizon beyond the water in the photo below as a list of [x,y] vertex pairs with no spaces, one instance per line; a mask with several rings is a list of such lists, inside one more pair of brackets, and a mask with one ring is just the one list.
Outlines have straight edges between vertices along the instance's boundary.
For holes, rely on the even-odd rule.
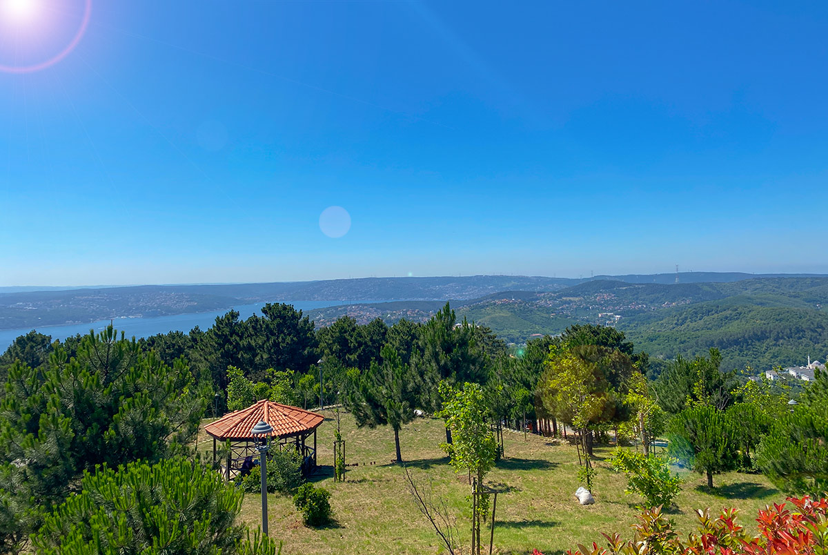
[[[668,279],[672,277],[672,282]],[[695,282],[692,278],[709,278]],[[748,277],[734,281],[736,278]],[[351,301],[310,311],[319,326],[349,315],[426,321],[446,299],[458,316],[522,343],[576,322],[618,326],[653,356],[724,350],[727,366],[797,364],[828,355],[828,278],[682,273],[577,280],[527,276],[362,278],[318,282],[100,287],[0,293],[0,329],[166,316],[253,302]],[[360,303],[360,301],[388,301]]]

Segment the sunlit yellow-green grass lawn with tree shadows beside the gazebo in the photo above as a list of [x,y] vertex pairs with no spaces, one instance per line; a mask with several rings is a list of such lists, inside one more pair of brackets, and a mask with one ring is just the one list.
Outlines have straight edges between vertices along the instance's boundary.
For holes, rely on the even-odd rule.
[[[335,523],[327,528],[306,528],[292,500],[270,495],[270,535],[284,542],[282,553],[291,554],[366,554],[443,553],[431,524],[416,509],[407,491],[400,466],[394,458],[393,432],[388,427],[376,429],[355,426],[348,414],[342,417],[342,435],[346,441],[347,462],[359,462],[350,468],[344,483],[333,480],[333,442],[336,427],[333,411],[325,411],[319,428],[319,462],[322,468],[312,478],[331,492]],[[496,553],[532,553],[537,548],[545,555],[565,553],[576,543],[598,542],[601,532],[628,535],[629,525],[637,514],[639,499],[624,495],[626,480],[602,461],[610,448],[598,447],[595,463],[596,504],[580,506],[574,492],[578,457],[575,447],[550,443],[543,437],[505,432],[506,457],[489,473],[487,483],[507,490],[498,495],[497,524],[494,529]],[[442,421],[420,418],[400,433],[402,458],[416,480],[431,482],[435,495],[448,500],[457,515],[460,541],[468,548],[470,509],[468,478],[455,474],[440,451],[445,441]],[[206,445],[206,444],[205,444]],[[203,447],[204,450],[206,447]],[[373,463],[373,464],[372,464]],[[751,532],[758,509],[784,499],[762,475],[730,473],[715,475],[715,492],[708,492],[705,478],[681,472],[685,483],[672,512],[682,535],[696,522],[695,509],[718,511],[734,506],[742,511],[741,523]],[[257,527],[261,519],[258,495],[244,499],[243,520]],[[486,543],[488,544],[488,531]]]

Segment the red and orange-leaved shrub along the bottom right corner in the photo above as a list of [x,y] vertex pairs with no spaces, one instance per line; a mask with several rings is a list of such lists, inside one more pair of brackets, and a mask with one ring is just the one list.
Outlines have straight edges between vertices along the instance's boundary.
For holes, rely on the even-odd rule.
[[[623,540],[618,533],[602,534],[607,547],[592,543],[579,545],[568,555],[828,555],[828,502],[787,499],[759,511],[758,535],[750,537],[736,523],[738,511],[725,509],[713,518],[709,510],[697,511],[699,524],[682,543],[673,530],[673,522],[662,514],[661,507],[647,509],[633,524],[633,539]],[[542,555],[537,549],[532,555]]]

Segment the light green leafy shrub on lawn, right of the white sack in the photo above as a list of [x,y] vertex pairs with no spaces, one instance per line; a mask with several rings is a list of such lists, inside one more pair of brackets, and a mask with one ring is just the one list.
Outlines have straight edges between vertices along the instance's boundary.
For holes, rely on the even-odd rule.
[[625,493],[641,495],[647,507],[667,507],[681,490],[681,479],[670,473],[670,460],[665,457],[619,449],[610,462],[627,475]]

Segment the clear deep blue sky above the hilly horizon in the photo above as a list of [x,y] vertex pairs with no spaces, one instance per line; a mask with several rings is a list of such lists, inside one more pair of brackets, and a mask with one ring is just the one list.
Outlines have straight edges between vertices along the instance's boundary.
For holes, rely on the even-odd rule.
[[0,285],[828,272],[823,6],[93,0],[0,72]]

